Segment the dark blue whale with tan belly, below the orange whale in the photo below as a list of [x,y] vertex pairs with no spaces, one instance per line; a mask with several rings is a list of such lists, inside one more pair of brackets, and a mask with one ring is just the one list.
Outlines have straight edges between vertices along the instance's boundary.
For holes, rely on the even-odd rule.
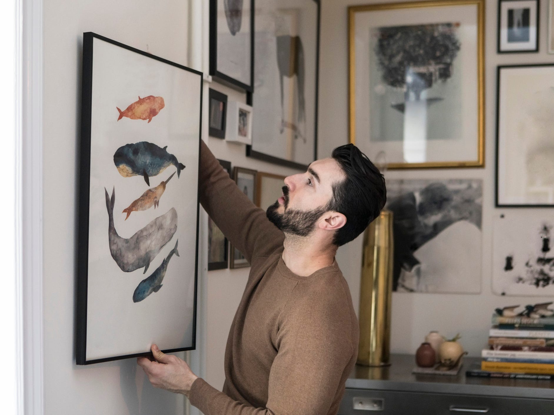
[[114,154],[114,164],[123,177],[142,176],[150,186],[150,177],[163,172],[170,165],[177,167],[177,177],[181,175],[184,164],[177,161],[175,155],[167,152],[167,146],[161,148],[156,144],[141,141],[125,144]]

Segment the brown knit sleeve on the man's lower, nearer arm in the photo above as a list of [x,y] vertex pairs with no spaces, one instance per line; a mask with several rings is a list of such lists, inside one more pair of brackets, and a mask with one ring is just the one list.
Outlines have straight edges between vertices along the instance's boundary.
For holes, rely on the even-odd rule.
[[337,318],[325,299],[306,301],[279,329],[279,351],[269,375],[268,402],[254,408],[234,401],[202,379],[191,404],[204,415],[321,415],[342,396],[345,370],[354,352],[350,317]]

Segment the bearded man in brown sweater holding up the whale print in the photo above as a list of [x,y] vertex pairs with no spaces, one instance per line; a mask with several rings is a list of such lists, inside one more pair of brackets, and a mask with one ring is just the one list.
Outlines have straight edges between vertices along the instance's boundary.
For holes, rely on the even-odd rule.
[[[205,415],[336,414],[356,362],[358,322],[335,253],[386,201],[384,178],[352,144],[285,179],[267,212],[202,143],[200,201],[251,264],[225,349],[223,392],[152,345],[138,364],[152,385]],[[268,220],[269,219],[269,220]]]

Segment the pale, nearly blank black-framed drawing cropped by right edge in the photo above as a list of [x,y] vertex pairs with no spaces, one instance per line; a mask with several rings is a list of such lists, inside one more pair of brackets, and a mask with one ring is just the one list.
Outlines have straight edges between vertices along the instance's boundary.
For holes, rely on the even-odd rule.
[[554,65],[497,69],[496,206],[554,206]]

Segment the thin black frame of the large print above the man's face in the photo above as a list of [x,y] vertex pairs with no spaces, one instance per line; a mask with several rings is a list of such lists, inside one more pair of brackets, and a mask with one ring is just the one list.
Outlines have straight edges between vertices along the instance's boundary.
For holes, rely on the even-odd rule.
[[[319,101],[319,46],[320,46],[320,28],[321,28],[321,2],[320,0],[312,0],[316,3],[317,6],[317,23],[316,23],[316,57],[315,57],[315,97],[314,97],[314,160],[317,160],[317,115],[318,115],[318,101]],[[254,33],[254,29],[252,30]],[[255,37],[254,37],[255,39]],[[254,56],[255,59],[255,56]],[[255,68],[253,61],[253,68]],[[255,93],[255,92],[254,92]],[[253,106],[254,111],[256,111],[255,105],[253,105],[253,92],[247,92],[247,104]],[[258,152],[253,149],[253,144],[255,141],[255,130],[252,131],[252,144],[246,146],[246,155],[247,157],[252,157],[258,160],[263,160],[264,162],[283,165],[285,167],[290,167],[297,170],[307,170],[308,164],[296,163],[292,160],[287,160],[280,157],[275,157],[271,154],[265,154]]]

